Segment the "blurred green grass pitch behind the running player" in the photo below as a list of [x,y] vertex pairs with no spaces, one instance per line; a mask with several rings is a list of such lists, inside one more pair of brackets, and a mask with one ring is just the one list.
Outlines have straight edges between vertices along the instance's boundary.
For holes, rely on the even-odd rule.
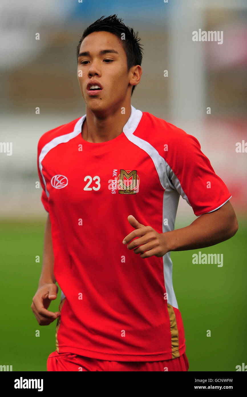
[[[56,321],[39,326],[31,310],[43,252],[44,221],[2,221],[0,364],[46,371],[55,351]],[[176,228],[181,226],[176,226]],[[172,252],[173,287],[182,314],[189,371],[236,371],[247,364],[247,222],[232,239],[206,249]],[[193,264],[192,254],[223,254],[217,264]],[[35,262],[36,255],[40,263]],[[50,309],[56,311],[60,290]],[[40,330],[40,337],[36,337]],[[207,337],[207,330],[211,337]]]

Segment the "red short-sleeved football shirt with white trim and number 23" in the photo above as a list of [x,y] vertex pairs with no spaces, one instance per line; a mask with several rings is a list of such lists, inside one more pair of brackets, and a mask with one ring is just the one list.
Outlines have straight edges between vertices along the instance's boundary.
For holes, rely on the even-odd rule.
[[186,345],[170,252],[141,258],[128,250],[127,217],[165,233],[174,229],[180,195],[196,216],[231,195],[197,139],[165,120],[131,106],[120,135],[91,143],[81,135],[85,118],[38,143],[62,290],[57,351],[112,361],[179,357]]

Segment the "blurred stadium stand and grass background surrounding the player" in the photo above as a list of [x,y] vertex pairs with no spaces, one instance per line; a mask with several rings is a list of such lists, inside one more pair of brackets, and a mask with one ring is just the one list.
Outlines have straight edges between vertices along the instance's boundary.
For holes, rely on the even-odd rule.
[[[244,0],[1,1],[0,141],[12,142],[13,152],[0,153],[0,364],[13,371],[46,371],[56,348],[55,322],[40,327],[31,310],[46,221],[41,189],[35,187],[37,143],[44,132],[85,114],[76,47],[88,25],[114,13],[139,32],[144,45],[143,75],[132,105],[197,137],[232,194],[237,234],[201,250],[223,253],[224,265],[193,265],[191,251],[171,256],[190,371],[235,371],[247,364],[247,153],[236,152],[237,142],[247,142]],[[223,31],[223,44],[193,42],[198,29]],[[194,219],[181,198],[176,228]]]

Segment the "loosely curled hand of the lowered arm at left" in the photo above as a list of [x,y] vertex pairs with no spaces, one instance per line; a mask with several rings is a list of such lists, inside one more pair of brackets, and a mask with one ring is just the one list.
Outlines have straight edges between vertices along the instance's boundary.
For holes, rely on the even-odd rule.
[[58,287],[56,284],[44,284],[38,288],[33,297],[31,308],[39,325],[49,325],[60,316],[60,312],[50,312],[47,310],[51,301],[57,298]]

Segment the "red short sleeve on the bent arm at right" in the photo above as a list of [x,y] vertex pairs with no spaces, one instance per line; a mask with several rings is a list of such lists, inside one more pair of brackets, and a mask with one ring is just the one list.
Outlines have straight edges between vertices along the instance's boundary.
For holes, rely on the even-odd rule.
[[192,135],[180,132],[165,161],[169,181],[196,216],[217,210],[232,197]]

